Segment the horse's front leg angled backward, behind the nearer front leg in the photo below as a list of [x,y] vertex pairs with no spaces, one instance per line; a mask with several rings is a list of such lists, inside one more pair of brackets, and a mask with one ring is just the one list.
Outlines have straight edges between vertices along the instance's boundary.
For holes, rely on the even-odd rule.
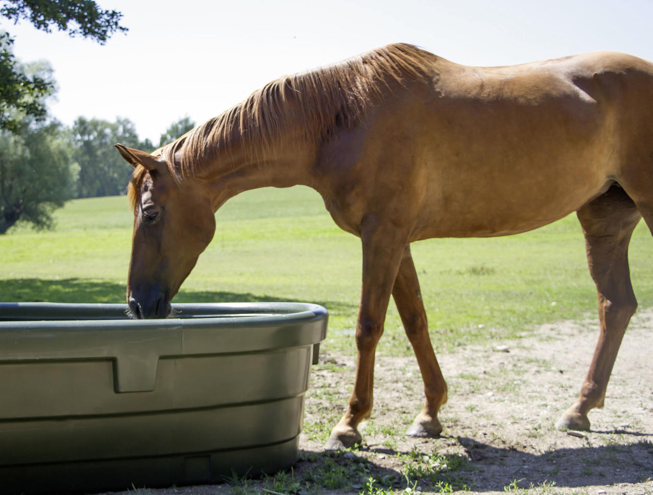
[[422,304],[419,281],[408,246],[406,246],[397,278],[394,281],[392,297],[397,305],[402,323],[404,323],[406,335],[415,351],[424,380],[424,394],[426,394],[426,404],[406,434],[438,436],[442,431],[442,425],[438,421],[438,409],[447,402],[447,383],[442,376],[438,359],[436,359],[428,336],[426,312],[424,304]]

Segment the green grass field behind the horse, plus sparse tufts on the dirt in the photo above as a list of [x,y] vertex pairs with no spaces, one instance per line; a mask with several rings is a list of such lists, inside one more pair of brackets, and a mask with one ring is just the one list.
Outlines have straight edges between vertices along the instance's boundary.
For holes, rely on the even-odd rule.
[[[321,346],[326,359],[313,367],[315,383],[323,386],[311,385],[304,421],[306,438],[323,443],[342,414],[346,387],[353,381],[353,370],[343,365],[342,359],[334,357],[346,355],[352,359],[355,356],[353,334],[360,291],[360,243],[355,236],[340,231],[325,211],[319,195],[304,187],[249,191],[227,202],[216,218],[217,230],[212,244],[202,254],[173,302],[299,300],[326,306],[330,320],[327,341]],[[33,232],[18,227],[0,236],[0,301],[123,302],[133,221],[125,197],[74,200],[57,211],[56,220],[54,231]],[[426,240],[413,244],[412,251],[432,340],[440,353],[468,343],[527,336],[537,323],[582,319],[588,314],[596,319],[596,291],[588,274],[584,241],[575,216],[512,237]],[[648,263],[653,244],[645,225],[637,227],[630,251],[633,285],[640,305],[653,306],[650,283],[653,268]],[[465,349],[458,349],[458,355]],[[412,351],[391,303],[377,355],[410,354]],[[479,357],[485,360],[487,353],[476,356],[479,361]],[[511,363],[518,361],[518,357],[515,353]],[[386,363],[392,360],[387,359]],[[464,365],[464,360],[461,362]],[[522,376],[524,370],[532,376],[537,362],[528,357],[524,368],[510,367],[514,374],[506,374],[503,382],[490,374],[479,377],[460,373],[448,377],[452,396],[461,387],[472,391],[485,386],[500,390],[501,385],[509,387],[508,396],[511,396],[517,393],[516,383],[529,381]],[[550,372],[551,365],[545,360],[540,366],[545,371],[535,370],[538,374]],[[500,366],[499,369],[507,373],[508,368]],[[396,368],[397,373],[401,370],[404,368]],[[405,393],[409,387],[404,386],[402,380],[406,379],[408,384],[419,381],[416,374],[411,376],[401,379],[393,376],[392,381],[399,382],[398,389]],[[500,424],[493,431],[483,423],[494,425],[496,419],[491,413],[483,413],[486,407],[483,401],[488,399],[485,389],[480,396],[481,405],[475,402],[480,393],[456,394],[451,406],[445,409],[441,417],[449,434],[437,440],[442,452],[436,451],[434,443],[422,445],[419,441],[408,450],[393,447],[402,439],[407,425],[421,407],[419,398],[413,401],[417,408],[407,413],[411,406],[406,405],[410,402],[404,396],[406,403],[401,402],[400,407],[393,409],[390,419],[387,419],[387,410],[377,411],[376,419],[370,421],[365,432],[366,437],[385,438],[385,443],[376,445],[381,450],[362,447],[362,451],[353,449],[333,454],[302,450],[301,467],[297,471],[280,471],[261,480],[240,479],[234,475],[229,486],[220,485],[221,489],[215,493],[320,494],[328,489],[337,490],[337,493],[397,495],[419,493],[422,485],[428,492],[451,493],[473,486],[473,472],[488,464],[483,464],[479,458],[472,459],[471,455],[453,453],[457,452],[459,443],[460,449],[463,448],[462,442],[451,436],[456,432],[475,438],[473,441],[466,438],[466,441],[487,447],[484,452],[505,453],[498,464],[505,458],[508,462],[516,459],[520,469],[528,467],[524,466],[526,459],[529,464],[548,470],[554,466],[551,461],[557,462],[553,459],[562,464],[569,462],[564,459],[574,455],[582,464],[589,462],[592,455],[597,458],[613,455],[609,449],[614,446],[608,443],[620,441],[614,438],[623,430],[617,430],[612,436],[609,432],[601,432],[607,439],[592,437],[591,446],[587,439],[584,448],[577,450],[560,448],[541,456],[523,453],[524,449],[519,447],[523,438],[518,443],[501,443],[500,435],[505,425]],[[538,397],[540,393],[538,389]],[[555,394],[557,397],[560,392]],[[575,390],[569,392],[567,399],[571,400],[573,394]],[[377,393],[377,398],[380,395]],[[528,392],[526,396],[532,395]],[[389,397],[395,400],[395,396]],[[494,398],[496,396],[492,400]],[[464,424],[451,412],[461,400],[473,403],[473,410],[479,408],[478,421],[471,429],[464,429]],[[550,441],[554,445],[557,441],[554,418],[541,416],[542,407],[538,404],[542,400],[530,404],[534,414],[537,413],[535,426],[521,417],[518,423],[526,428],[540,428],[538,432],[526,431],[529,436],[552,437]],[[486,430],[492,432],[496,441],[485,436]],[[632,441],[640,439],[633,436]],[[597,449],[596,445],[608,446]],[[449,448],[453,450],[450,452]],[[635,452],[628,445],[619,448],[626,453]],[[564,457],[565,451],[571,452],[567,453],[569,457]],[[381,452],[386,464],[380,463],[380,456],[376,457]],[[384,468],[384,465],[392,468]],[[555,472],[551,472],[550,476],[555,477]],[[522,490],[518,486],[518,481],[522,480],[507,477],[508,473],[511,473],[510,468],[502,468],[492,478],[500,479],[497,483],[504,486],[505,492],[557,493],[552,489],[554,481],[546,479],[534,488]],[[616,480],[616,475],[605,481],[611,480]],[[486,492],[490,485],[479,488]],[[565,493],[589,493],[584,487],[578,490],[574,487],[577,485],[572,484]],[[180,491],[175,488],[174,492]],[[135,488],[129,493],[149,495],[154,492],[150,488]]]

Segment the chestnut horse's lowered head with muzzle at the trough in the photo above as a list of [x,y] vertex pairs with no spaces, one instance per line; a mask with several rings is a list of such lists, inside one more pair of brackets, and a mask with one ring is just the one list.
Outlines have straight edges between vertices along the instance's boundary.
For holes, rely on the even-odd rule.
[[116,148],[135,168],[129,185],[134,232],[127,304],[136,318],[167,317],[170,299],[213,237],[212,202],[199,182],[174,176],[163,157]]

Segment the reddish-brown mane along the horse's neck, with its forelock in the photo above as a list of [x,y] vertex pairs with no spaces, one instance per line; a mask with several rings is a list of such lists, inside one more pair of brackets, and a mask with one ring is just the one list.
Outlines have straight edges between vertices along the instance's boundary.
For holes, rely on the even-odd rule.
[[[392,82],[428,80],[436,57],[410,44],[390,44],[312,71],[283,76],[249,98],[159,148],[176,177],[195,174],[218,150],[235,140],[257,154],[273,147],[292,119],[306,138],[319,142],[336,127],[356,125],[375,98]],[[181,161],[175,160],[182,151]],[[144,170],[137,167],[130,187],[140,189]]]

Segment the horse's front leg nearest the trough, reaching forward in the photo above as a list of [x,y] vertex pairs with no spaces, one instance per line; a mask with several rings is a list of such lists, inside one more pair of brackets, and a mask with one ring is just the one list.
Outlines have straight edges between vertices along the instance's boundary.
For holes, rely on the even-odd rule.
[[366,219],[360,234],[363,248],[362,290],[356,345],[358,360],[347,411],[334,426],[325,449],[351,447],[362,441],[358,424],[370,417],[374,385],[374,352],[383,333],[392,285],[402,259],[406,236],[377,219]]

